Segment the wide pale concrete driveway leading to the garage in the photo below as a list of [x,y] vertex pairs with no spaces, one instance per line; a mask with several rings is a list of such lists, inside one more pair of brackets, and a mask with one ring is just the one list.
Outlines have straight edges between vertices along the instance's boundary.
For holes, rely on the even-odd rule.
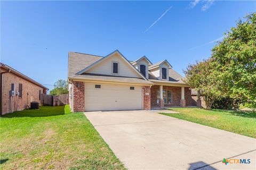
[[[153,111],[85,115],[129,169],[255,169],[253,138]],[[225,165],[223,158],[251,163]]]

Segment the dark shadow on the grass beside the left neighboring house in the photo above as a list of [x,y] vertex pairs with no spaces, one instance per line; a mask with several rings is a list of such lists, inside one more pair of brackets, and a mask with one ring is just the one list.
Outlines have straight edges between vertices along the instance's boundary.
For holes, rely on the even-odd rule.
[[3,118],[12,117],[48,117],[58,116],[70,113],[68,105],[65,106],[40,106],[39,109],[25,109],[23,111],[16,111],[2,115]]

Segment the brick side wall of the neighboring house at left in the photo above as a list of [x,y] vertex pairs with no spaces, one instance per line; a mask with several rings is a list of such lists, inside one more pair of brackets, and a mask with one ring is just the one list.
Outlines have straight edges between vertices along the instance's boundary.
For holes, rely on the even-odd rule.
[[[10,97],[11,84],[15,84],[14,91],[19,91],[19,83],[22,84],[22,97]],[[39,90],[43,94],[43,88],[24,79],[13,73],[3,74],[3,92],[2,92],[2,114],[11,112],[11,98],[12,98],[12,111],[22,111],[30,107],[31,101],[39,101]],[[39,101],[40,102],[40,101]]]

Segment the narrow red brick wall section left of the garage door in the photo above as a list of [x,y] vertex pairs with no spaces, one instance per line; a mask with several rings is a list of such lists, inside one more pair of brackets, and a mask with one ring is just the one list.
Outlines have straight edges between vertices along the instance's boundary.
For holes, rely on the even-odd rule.
[[73,82],[73,112],[84,112],[84,82]]

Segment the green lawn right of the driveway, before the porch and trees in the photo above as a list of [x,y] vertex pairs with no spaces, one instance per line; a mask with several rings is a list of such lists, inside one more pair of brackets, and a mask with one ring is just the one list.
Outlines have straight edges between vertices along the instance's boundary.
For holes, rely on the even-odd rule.
[[256,113],[253,112],[207,111],[201,108],[171,108],[171,110],[179,113],[161,114],[256,138]]

